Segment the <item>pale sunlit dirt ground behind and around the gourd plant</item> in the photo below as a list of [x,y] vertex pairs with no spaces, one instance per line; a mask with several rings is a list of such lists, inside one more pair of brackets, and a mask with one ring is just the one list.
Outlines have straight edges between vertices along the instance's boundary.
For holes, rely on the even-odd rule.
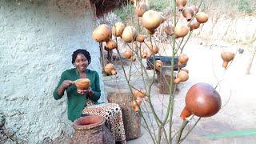
[[[183,143],[256,143],[256,60],[252,63],[250,74],[246,74],[252,52],[244,49],[244,52],[239,54],[239,48],[243,47],[225,42],[204,42],[195,38],[187,43],[184,54],[190,58],[186,66],[190,78],[178,85],[180,91],[174,98],[174,130],[178,130],[182,123],[179,115],[185,106],[186,92],[195,83],[206,82],[212,86],[219,83],[216,90],[222,98],[222,109],[213,117],[202,118]],[[236,53],[228,70],[222,68],[220,54],[223,50]],[[170,50],[166,49],[166,54],[170,54]],[[115,65],[118,76],[104,77],[106,92],[110,89],[127,88],[122,66],[118,63]],[[132,85],[143,88],[140,74],[133,73],[139,68],[138,64],[131,67]],[[129,65],[125,66],[126,70],[129,68]],[[147,72],[150,78],[153,78],[152,70]],[[157,113],[161,114],[162,104],[166,110],[169,95],[159,94],[157,82],[153,84],[152,93],[154,107]],[[150,135],[142,128],[142,136],[127,143],[152,142]]]

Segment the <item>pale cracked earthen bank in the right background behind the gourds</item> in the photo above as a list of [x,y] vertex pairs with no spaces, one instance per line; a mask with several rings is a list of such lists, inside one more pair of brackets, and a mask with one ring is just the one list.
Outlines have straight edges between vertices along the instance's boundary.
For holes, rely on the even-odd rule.
[[209,20],[199,30],[197,38],[256,46],[256,12],[253,14],[209,14]]

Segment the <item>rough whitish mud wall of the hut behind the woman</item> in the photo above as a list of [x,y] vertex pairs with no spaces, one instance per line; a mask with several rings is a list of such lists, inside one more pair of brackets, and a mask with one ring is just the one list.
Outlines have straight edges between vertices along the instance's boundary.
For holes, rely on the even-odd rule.
[[90,51],[89,68],[101,75],[90,1],[3,0],[0,19],[0,114],[6,129],[26,143],[72,134],[66,97],[55,101],[52,93],[62,71],[73,68],[71,54],[78,48]]

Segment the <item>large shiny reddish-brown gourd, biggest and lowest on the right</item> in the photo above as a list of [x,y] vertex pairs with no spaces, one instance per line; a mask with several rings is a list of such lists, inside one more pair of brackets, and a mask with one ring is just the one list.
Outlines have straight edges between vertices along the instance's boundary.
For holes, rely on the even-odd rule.
[[197,83],[186,94],[186,106],[180,117],[188,118],[191,114],[198,117],[210,117],[221,109],[222,99],[214,87],[207,83]]

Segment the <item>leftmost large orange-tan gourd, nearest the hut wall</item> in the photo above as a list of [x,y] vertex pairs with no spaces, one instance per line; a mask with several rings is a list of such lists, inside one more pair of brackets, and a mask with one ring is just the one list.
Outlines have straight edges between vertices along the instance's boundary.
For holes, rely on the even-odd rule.
[[111,38],[111,28],[106,24],[98,26],[93,31],[93,38],[96,42],[107,42]]

